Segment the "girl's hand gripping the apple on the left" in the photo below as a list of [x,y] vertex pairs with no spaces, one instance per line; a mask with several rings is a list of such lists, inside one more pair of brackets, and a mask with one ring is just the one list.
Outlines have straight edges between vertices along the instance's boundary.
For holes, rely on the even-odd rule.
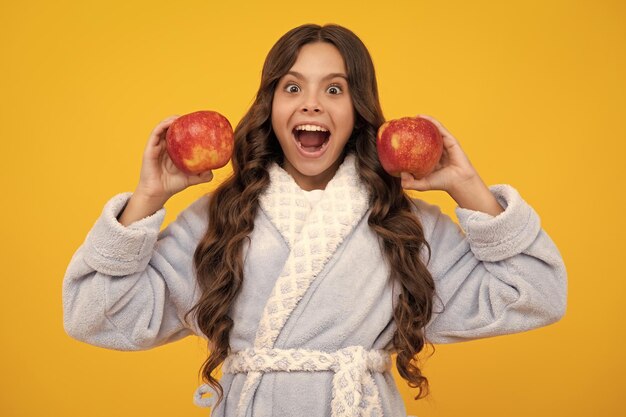
[[213,172],[188,175],[179,170],[167,154],[165,134],[179,116],[170,116],[152,130],[144,150],[139,184],[135,194],[145,199],[165,203],[171,196],[185,188],[213,179]]

